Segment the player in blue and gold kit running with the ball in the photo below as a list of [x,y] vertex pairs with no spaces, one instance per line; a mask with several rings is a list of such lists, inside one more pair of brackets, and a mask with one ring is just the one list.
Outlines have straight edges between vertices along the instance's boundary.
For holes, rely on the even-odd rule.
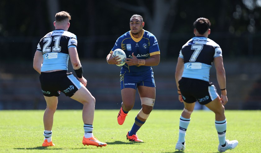
[[120,36],[106,60],[109,64],[120,64],[118,57],[112,57],[115,49],[122,49],[126,53],[126,63],[121,67],[121,109],[117,116],[118,123],[122,125],[128,112],[135,103],[135,93],[138,89],[141,106],[140,112],[135,117],[135,122],[129,132],[127,140],[140,140],[136,132],[145,123],[153,109],[156,90],[151,66],[156,66],[160,61],[160,51],[156,37],[143,29],[144,22],[140,15],[133,15],[130,19],[131,30]]

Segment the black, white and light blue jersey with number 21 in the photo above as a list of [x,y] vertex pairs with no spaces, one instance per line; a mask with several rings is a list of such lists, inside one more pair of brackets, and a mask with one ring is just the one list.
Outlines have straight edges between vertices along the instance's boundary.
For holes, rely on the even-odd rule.
[[37,50],[43,54],[41,72],[68,70],[70,47],[77,47],[77,37],[73,33],[57,29],[46,34],[37,45]]

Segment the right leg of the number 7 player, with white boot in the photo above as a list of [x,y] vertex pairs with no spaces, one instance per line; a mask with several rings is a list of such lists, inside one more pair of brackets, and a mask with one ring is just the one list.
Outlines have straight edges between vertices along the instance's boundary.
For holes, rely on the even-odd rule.
[[228,149],[234,149],[237,146],[238,141],[226,140],[227,120],[225,117],[225,107],[222,105],[220,97],[218,96],[213,101],[205,104],[205,106],[215,113],[215,127],[218,131],[219,140],[218,151],[223,152]]

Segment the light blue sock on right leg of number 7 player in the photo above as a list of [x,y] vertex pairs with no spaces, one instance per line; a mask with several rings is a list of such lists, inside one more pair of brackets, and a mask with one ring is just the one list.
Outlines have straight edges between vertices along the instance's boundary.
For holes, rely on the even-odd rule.
[[219,145],[224,145],[226,143],[227,120],[215,121],[215,127],[218,131]]

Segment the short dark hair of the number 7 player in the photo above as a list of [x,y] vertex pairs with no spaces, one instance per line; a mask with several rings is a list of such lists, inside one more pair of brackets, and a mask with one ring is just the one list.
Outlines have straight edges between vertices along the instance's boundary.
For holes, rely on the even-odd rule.
[[194,22],[193,25],[199,34],[204,34],[209,29],[211,23],[207,18],[200,17]]

